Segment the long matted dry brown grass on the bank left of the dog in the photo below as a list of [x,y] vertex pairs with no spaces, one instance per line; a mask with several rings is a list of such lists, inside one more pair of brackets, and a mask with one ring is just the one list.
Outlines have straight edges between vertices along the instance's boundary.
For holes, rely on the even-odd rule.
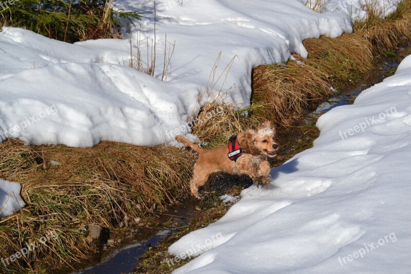
[[[0,144],[0,151],[1,178],[21,182],[27,204],[0,222],[0,258],[47,231],[59,234],[58,240],[35,249],[7,271],[35,268],[33,261],[46,257],[48,265],[78,260],[93,248],[87,225],[97,224],[116,236],[119,228],[136,218],[144,220],[189,193],[192,157],[173,147],[113,142],[86,149],[26,147],[8,140]],[[53,166],[50,160],[61,165]]]

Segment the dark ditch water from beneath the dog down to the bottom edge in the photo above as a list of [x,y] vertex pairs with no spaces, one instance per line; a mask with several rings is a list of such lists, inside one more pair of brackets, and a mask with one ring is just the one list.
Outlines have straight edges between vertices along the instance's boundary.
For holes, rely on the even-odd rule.
[[[220,196],[229,191],[230,186],[235,185],[245,189],[252,184],[253,181],[247,176],[221,174],[210,184],[210,190],[215,191],[216,195]],[[234,197],[232,196],[225,196],[225,202],[227,203],[232,202],[233,199]],[[181,227],[185,227],[196,213],[198,204],[199,202],[194,198],[184,199],[180,205],[175,205],[167,212],[158,214],[161,215],[158,227],[139,230],[139,234],[133,240],[125,241],[115,248],[104,250],[87,262],[73,266],[80,270],[63,270],[60,274],[120,274],[135,272],[135,267],[141,255],[150,247],[158,245],[165,237],[179,231]]]

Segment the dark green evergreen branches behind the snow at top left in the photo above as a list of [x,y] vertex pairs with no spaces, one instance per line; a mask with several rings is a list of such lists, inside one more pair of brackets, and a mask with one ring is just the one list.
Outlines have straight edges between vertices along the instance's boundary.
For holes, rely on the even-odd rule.
[[119,37],[121,19],[140,19],[135,11],[114,10],[113,0],[19,0],[0,12],[0,27],[32,30],[69,43]]

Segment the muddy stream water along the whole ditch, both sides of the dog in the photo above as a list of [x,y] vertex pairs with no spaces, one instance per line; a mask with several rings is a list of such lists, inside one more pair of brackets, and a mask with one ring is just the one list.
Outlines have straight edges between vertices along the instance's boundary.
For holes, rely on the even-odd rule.
[[[316,119],[330,109],[352,103],[364,89],[381,82],[384,78],[393,75],[401,60],[411,54],[411,45],[396,52],[395,57],[384,57],[376,61],[374,68],[364,77],[353,82],[344,92],[321,103],[317,109],[308,114],[301,124],[313,124]],[[214,182],[217,193],[221,195],[227,190],[227,185],[233,181],[241,181],[242,187],[252,184],[246,178],[235,178],[235,180],[222,177]],[[227,184],[229,183],[229,184]],[[139,228],[132,239],[116,244],[116,247],[103,250],[91,260],[82,265],[74,266],[78,270],[71,273],[129,273],[135,271],[138,258],[149,248],[158,245],[161,240],[173,234],[178,227],[185,226],[196,212],[196,201],[184,200],[180,205],[170,208],[165,214],[160,214],[159,224],[152,228]],[[70,271],[63,271],[64,273]]]

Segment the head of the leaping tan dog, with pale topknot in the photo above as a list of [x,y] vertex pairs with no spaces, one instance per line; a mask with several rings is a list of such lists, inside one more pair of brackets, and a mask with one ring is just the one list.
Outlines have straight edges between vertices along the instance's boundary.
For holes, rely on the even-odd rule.
[[265,121],[256,130],[238,134],[242,148],[253,155],[276,156],[278,144],[275,142],[275,128],[270,121]]

